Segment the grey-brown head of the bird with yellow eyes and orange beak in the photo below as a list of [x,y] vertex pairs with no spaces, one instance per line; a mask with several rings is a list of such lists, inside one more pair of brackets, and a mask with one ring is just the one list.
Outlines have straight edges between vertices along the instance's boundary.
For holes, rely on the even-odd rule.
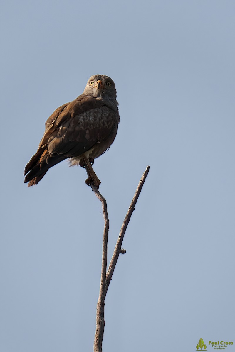
[[116,99],[117,92],[113,80],[105,75],[93,75],[87,81],[84,94],[93,96],[94,98],[104,95]]

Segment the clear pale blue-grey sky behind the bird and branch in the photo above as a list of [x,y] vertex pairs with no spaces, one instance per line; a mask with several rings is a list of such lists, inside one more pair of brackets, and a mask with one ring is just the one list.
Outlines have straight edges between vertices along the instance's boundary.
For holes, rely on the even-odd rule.
[[[66,161],[34,187],[44,122],[92,74],[120,125],[95,160],[109,258],[147,165],[105,304],[103,351],[234,341],[235,2],[1,3],[0,351],[92,351],[103,215]],[[213,350],[208,346],[207,350]]]

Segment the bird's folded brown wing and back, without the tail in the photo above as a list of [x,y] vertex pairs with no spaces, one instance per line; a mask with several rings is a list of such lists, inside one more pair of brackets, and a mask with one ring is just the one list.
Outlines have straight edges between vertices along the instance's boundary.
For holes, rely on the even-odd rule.
[[39,149],[47,145],[50,156],[79,156],[113,133],[117,115],[101,100],[80,95],[48,118]]

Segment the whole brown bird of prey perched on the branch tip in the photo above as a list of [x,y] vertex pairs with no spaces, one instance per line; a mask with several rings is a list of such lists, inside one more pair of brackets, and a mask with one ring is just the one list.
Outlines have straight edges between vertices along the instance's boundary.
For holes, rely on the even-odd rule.
[[33,186],[46,172],[62,160],[86,167],[88,185],[99,187],[100,181],[91,165],[113,143],[120,121],[117,92],[113,80],[94,75],[84,92],[72,102],[57,108],[45,122],[45,132],[38,150],[25,166],[25,180]]

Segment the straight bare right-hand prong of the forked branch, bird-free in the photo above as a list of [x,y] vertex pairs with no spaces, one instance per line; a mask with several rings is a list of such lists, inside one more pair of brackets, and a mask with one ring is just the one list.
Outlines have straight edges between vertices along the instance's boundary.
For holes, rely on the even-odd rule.
[[126,213],[125,219],[123,221],[123,224],[122,224],[122,227],[121,227],[121,230],[120,230],[120,233],[119,233],[119,237],[118,237],[118,240],[117,240],[114,252],[113,252],[113,256],[112,256],[112,259],[111,259],[110,264],[109,264],[109,269],[108,269],[107,274],[106,274],[105,296],[107,294],[107,290],[109,288],[109,284],[110,284],[110,281],[112,279],[113,271],[114,271],[115,266],[117,264],[117,260],[118,260],[118,257],[119,257],[120,251],[121,251],[122,241],[123,241],[123,238],[124,238],[124,234],[125,234],[126,228],[127,228],[128,224],[129,224],[131,215],[132,215],[132,213],[135,210],[135,205],[136,205],[136,202],[138,200],[138,196],[140,195],[140,192],[142,190],[144,181],[145,181],[145,179],[146,179],[146,177],[148,175],[149,168],[150,168],[150,166],[147,166],[147,169],[144,171],[143,176],[140,179],[140,182],[139,182],[138,187],[136,189],[135,195],[134,195],[134,197],[133,197],[133,199],[131,201],[131,204],[130,204],[130,207],[128,209],[128,212]]

